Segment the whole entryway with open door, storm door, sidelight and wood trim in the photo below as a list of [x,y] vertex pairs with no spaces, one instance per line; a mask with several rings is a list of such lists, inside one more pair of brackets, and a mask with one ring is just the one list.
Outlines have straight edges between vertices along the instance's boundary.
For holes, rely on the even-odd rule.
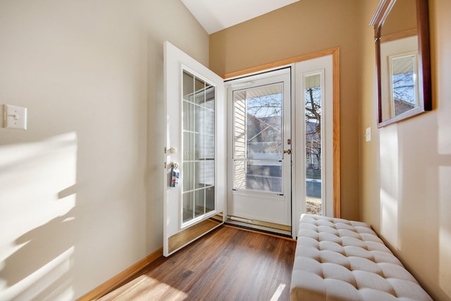
[[329,49],[271,64],[226,93],[165,43],[165,256],[226,221],[295,238],[312,197],[340,217],[338,62]]

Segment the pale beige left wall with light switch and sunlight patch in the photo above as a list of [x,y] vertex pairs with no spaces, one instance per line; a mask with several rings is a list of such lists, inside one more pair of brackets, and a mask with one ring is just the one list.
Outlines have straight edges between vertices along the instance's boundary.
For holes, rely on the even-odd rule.
[[[162,245],[163,41],[205,65],[180,0],[0,1],[0,299],[72,300]],[[2,112],[0,112],[2,113]]]

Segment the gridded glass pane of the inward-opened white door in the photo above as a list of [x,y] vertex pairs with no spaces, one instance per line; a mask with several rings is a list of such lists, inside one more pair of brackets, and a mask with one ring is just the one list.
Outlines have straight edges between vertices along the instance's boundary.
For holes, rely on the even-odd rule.
[[214,211],[214,87],[183,71],[183,221]]

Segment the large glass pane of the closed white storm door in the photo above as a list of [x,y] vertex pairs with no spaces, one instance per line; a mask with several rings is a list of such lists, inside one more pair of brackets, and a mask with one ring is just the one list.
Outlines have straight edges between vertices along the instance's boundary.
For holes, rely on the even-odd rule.
[[234,190],[283,193],[283,83],[233,92]]

